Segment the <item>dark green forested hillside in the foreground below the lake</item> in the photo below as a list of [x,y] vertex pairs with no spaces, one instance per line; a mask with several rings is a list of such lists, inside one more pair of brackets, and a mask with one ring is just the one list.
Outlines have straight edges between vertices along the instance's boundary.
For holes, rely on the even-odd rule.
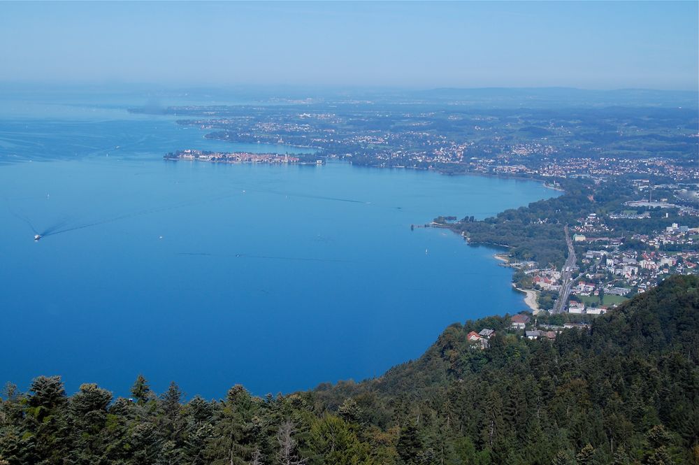
[[[553,342],[509,322],[454,324],[381,378],[287,396],[8,385],[0,464],[699,464],[699,278]],[[496,334],[481,350],[466,335],[484,327]]]

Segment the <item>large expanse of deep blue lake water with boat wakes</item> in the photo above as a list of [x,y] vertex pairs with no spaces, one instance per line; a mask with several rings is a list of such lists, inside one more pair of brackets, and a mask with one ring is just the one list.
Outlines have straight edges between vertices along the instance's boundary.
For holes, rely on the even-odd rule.
[[156,391],[290,392],[380,375],[452,322],[526,308],[493,249],[410,224],[555,194],[539,183],[164,162],[178,148],[298,150],[206,141],[123,108],[16,110],[0,108],[0,381],[60,374],[70,392],[127,395],[143,373]]

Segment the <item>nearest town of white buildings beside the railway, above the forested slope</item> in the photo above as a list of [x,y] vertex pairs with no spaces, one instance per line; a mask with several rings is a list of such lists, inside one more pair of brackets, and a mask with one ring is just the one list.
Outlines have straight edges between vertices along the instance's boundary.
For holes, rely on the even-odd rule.
[[[639,222],[650,218],[647,211],[621,216],[621,219]],[[571,228],[573,243],[579,252],[578,273],[565,306],[568,313],[602,315],[672,274],[699,273],[697,217],[686,217],[692,225],[672,222],[650,234],[630,236],[618,236],[605,222],[607,219],[619,220],[620,215],[603,217],[593,213],[579,219]],[[532,287],[539,292],[551,295],[561,289],[558,269],[519,267],[531,276]]]

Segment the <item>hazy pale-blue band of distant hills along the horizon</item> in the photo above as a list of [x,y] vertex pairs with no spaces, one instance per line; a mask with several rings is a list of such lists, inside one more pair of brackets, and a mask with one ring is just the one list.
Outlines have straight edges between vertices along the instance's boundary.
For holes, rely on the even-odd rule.
[[658,106],[699,108],[699,92],[687,90],[586,90],[574,87],[440,87],[435,89],[401,89],[388,87],[296,87],[232,86],[174,87],[157,84],[41,85],[7,83],[0,99],[75,99],[99,96],[129,96],[136,99],[174,101],[216,101],[217,104],[240,104],[254,101],[381,101],[410,103],[458,103],[480,108],[553,108],[561,106]]

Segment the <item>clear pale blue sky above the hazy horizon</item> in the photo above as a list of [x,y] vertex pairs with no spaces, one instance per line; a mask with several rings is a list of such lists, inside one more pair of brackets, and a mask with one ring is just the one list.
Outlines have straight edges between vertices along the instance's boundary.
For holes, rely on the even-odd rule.
[[0,83],[697,90],[698,6],[0,1]]

